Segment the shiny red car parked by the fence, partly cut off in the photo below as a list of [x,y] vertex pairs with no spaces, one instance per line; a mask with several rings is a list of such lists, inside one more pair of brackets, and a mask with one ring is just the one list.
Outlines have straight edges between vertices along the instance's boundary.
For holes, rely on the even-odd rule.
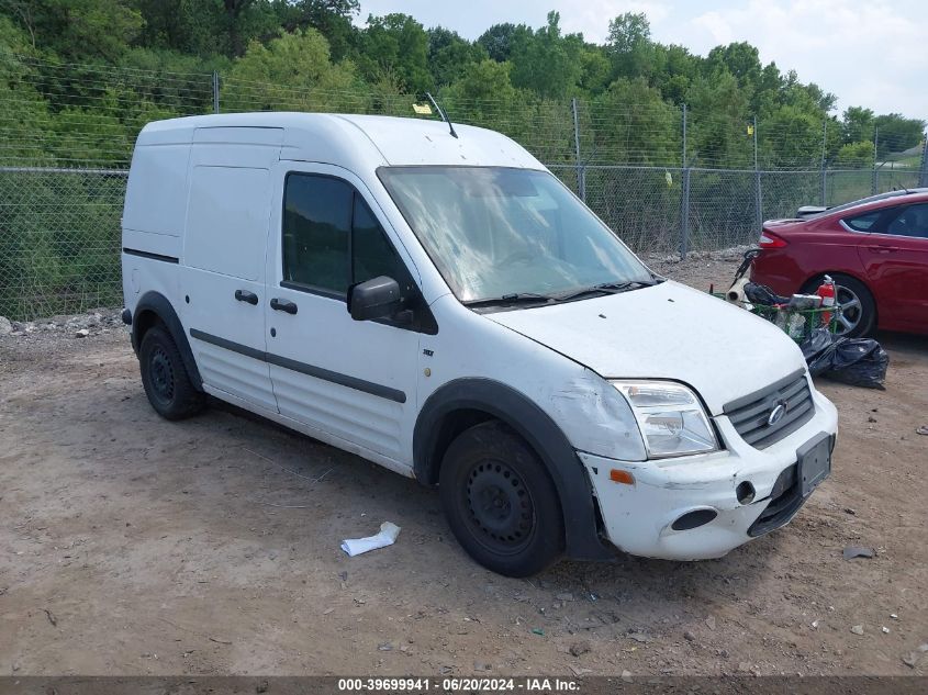
[[778,294],[814,293],[831,276],[840,334],[928,334],[928,189],[765,222],[760,247],[751,280]]

